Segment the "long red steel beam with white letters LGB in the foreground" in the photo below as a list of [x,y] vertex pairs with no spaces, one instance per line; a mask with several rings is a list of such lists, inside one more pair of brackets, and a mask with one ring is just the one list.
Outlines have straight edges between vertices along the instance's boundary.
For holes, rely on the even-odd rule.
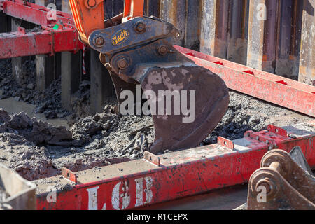
[[55,192],[50,191],[54,183],[69,180],[55,176],[34,181],[37,209],[134,209],[246,183],[273,148],[290,152],[300,146],[315,168],[315,121],[286,130],[269,125],[262,132],[246,132],[232,144],[222,140],[222,145],[165,153],[160,158],[146,153],[147,159],[76,172],[75,186]]

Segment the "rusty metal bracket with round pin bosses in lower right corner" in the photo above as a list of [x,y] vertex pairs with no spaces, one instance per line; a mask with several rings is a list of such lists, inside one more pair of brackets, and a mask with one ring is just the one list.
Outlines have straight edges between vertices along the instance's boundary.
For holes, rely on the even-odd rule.
[[248,210],[315,209],[315,179],[286,151],[266,153],[248,184]]

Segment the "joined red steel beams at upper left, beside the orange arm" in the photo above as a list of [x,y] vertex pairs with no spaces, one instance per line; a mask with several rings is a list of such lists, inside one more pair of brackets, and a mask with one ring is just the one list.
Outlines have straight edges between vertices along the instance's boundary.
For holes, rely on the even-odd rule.
[[[57,11],[56,20],[52,20],[47,8],[28,2],[25,5],[20,0],[1,1],[0,10],[6,15],[41,25],[43,29],[28,32],[21,28],[18,32],[0,34],[0,59],[83,49],[72,16],[68,13]],[[58,29],[53,29],[55,25]]]

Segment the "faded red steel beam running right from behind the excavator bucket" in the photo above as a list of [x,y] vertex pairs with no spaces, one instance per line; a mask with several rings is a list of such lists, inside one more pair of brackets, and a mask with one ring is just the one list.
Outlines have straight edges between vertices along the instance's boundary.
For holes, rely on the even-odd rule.
[[228,88],[315,117],[315,86],[174,46],[196,64],[223,78]]

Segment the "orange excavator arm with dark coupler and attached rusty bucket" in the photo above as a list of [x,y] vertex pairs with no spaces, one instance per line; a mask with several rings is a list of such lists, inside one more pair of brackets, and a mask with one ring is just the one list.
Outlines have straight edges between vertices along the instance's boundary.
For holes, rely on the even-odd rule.
[[[137,115],[151,112],[152,153],[195,147],[214,130],[228,109],[228,88],[219,76],[173,47],[181,39],[179,29],[144,16],[144,0],[125,0],[124,13],[107,20],[104,1],[69,1],[79,38],[100,53],[119,105],[121,94],[129,90],[136,96],[135,109],[126,110]],[[120,113],[125,111],[120,108]]]

